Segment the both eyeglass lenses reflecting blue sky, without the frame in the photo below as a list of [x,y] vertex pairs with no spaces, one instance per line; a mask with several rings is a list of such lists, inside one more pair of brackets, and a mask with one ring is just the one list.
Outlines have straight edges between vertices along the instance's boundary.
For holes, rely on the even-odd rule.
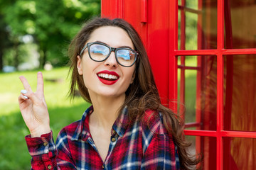
[[[90,57],[92,60],[101,62],[110,55],[110,48],[105,45],[92,44],[90,45]],[[134,63],[136,53],[129,49],[119,48],[116,50],[117,62],[124,66],[131,66]]]

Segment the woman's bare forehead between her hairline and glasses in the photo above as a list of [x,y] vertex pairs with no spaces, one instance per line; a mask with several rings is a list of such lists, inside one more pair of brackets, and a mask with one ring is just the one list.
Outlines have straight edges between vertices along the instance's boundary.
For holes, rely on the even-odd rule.
[[104,42],[112,47],[134,47],[131,38],[125,30],[117,26],[103,26],[95,29],[88,42]]

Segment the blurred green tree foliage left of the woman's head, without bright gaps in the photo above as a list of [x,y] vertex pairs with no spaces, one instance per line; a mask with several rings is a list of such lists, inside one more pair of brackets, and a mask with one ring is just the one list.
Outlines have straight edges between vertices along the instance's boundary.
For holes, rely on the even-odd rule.
[[81,24],[100,15],[100,0],[6,0],[0,3],[0,11],[4,21],[0,26],[9,32],[18,57],[23,36],[31,35],[38,45],[40,66],[46,61],[61,66],[68,61],[66,49]]

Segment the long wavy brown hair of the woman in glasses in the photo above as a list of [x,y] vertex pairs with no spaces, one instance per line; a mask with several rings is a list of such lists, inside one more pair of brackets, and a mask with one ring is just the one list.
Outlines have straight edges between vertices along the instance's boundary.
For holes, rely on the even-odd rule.
[[[91,103],[90,96],[87,88],[85,87],[82,76],[78,74],[77,56],[82,50],[82,47],[84,47],[85,42],[89,40],[91,33],[102,26],[114,26],[125,30],[134,44],[134,50],[139,52],[138,60],[135,63],[135,79],[126,91],[126,98],[122,106],[122,108],[128,106],[129,120],[135,120],[138,116],[139,118],[142,118],[144,112],[148,109],[161,112],[163,115],[164,125],[172,134],[174,142],[178,146],[181,169],[194,169],[194,166],[201,162],[201,159],[188,155],[187,148],[190,146],[190,143],[185,142],[184,140],[183,121],[169,108],[166,108],[161,104],[149,59],[142,40],[137,31],[127,23],[127,21],[120,18],[115,18],[113,20],[108,18],[94,18],[92,21],[87,22],[85,26],[82,27],[78,35],[75,36],[69,47],[70,73],[72,73],[70,96],[75,96],[75,89],[76,86],[78,86],[82,98]],[[120,108],[119,111],[122,111],[122,108]]]

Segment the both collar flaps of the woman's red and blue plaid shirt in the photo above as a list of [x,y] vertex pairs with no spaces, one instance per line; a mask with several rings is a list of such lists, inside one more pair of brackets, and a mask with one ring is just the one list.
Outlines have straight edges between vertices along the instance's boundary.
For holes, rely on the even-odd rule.
[[[85,113],[82,115],[82,119],[79,120],[78,127],[76,128],[71,140],[79,140],[82,139],[86,141],[88,137],[90,137],[90,129],[89,129],[89,118],[90,114],[93,112],[93,106],[87,108]],[[112,125],[111,133],[114,135],[114,131],[117,132],[117,135],[123,136],[124,132],[127,129],[127,125],[129,125],[127,106],[124,107],[122,113],[118,116],[117,120],[114,121]]]

